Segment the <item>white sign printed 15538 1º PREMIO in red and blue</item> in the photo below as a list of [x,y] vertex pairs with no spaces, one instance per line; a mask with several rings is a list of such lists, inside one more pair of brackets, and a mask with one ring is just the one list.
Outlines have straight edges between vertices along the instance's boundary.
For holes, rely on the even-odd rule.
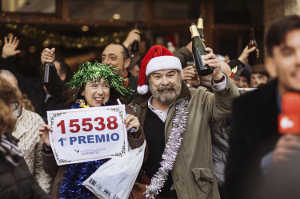
[[58,165],[87,162],[128,151],[125,106],[48,111],[51,148]]

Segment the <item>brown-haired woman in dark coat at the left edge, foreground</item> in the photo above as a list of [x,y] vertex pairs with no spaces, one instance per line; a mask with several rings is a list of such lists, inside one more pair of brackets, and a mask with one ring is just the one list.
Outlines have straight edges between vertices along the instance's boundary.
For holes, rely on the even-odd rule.
[[[5,80],[0,77],[0,82]],[[10,92],[0,90],[0,198],[49,198],[29,172],[17,140],[11,135],[18,114],[15,104],[20,103],[20,98],[15,88],[9,89]]]

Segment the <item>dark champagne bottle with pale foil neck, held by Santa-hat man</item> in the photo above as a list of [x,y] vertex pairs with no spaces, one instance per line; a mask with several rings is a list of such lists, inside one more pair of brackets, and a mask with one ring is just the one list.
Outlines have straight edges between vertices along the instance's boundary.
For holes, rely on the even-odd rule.
[[199,76],[209,75],[213,72],[213,68],[203,65],[201,56],[206,54],[205,45],[200,38],[200,34],[195,24],[190,26],[190,32],[192,35],[192,50],[197,72]]

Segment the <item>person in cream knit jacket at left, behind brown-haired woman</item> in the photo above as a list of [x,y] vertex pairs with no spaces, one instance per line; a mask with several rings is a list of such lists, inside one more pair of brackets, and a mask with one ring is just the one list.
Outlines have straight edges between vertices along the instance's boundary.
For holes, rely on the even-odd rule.
[[40,187],[46,193],[49,193],[52,179],[43,167],[42,142],[38,135],[38,129],[40,125],[44,124],[44,121],[37,113],[23,108],[20,90],[1,76],[0,93],[2,98],[8,100],[10,96],[17,95],[18,99],[13,104],[16,125],[15,129],[11,131],[11,135],[18,140],[18,148],[23,153],[30,173],[34,176]]

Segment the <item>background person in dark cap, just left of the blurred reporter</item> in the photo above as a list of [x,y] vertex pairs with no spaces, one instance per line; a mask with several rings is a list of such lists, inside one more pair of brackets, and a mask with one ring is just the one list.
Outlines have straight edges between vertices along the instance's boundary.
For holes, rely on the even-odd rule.
[[264,65],[258,64],[252,67],[250,85],[251,88],[257,88],[269,81],[269,74],[265,70]]

